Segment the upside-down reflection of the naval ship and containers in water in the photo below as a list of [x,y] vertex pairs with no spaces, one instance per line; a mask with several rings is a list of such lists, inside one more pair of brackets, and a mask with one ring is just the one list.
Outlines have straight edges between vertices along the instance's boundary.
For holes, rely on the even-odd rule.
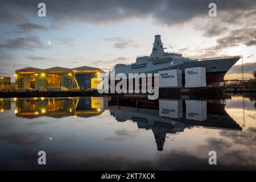
[[[186,108],[187,106],[187,108]],[[139,129],[152,130],[159,151],[166,135],[176,135],[191,127],[241,130],[226,113],[225,101],[146,100],[143,98],[111,97],[110,114],[119,122],[137,122]],[[160,116],[159,116],[160,115]]]

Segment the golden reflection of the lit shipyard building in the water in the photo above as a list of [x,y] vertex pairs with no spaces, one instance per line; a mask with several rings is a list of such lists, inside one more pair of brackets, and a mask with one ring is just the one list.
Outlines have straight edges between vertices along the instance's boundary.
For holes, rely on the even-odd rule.
[[108,108],[107,97],[86,98],[33,98],[16,100],[17,117],[92,117]]

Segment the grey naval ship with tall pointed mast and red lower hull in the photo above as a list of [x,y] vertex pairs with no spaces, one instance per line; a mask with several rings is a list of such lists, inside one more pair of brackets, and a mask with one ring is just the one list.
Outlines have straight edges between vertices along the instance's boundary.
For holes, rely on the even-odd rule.
[[[210,57],[204,59],[192,59],[183,57],[179,52],[164,52],[163,43],[160,35],[155,35],[150,56],[138,56],[134,64],[116,64],[114,67],[115,75],[118,73],[158,73],[164,69],[184,69],[192,67],[205,67],[207,86],[221,86],[224,82],[226,72],[242,56]],[[112,70],[112,71],[113,71]]]

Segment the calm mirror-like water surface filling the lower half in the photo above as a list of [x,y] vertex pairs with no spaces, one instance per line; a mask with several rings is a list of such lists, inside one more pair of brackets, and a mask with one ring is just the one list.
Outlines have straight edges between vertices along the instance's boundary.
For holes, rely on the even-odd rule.
[[255,94],[0,99],[0,169],[255,170],[255,102]]

